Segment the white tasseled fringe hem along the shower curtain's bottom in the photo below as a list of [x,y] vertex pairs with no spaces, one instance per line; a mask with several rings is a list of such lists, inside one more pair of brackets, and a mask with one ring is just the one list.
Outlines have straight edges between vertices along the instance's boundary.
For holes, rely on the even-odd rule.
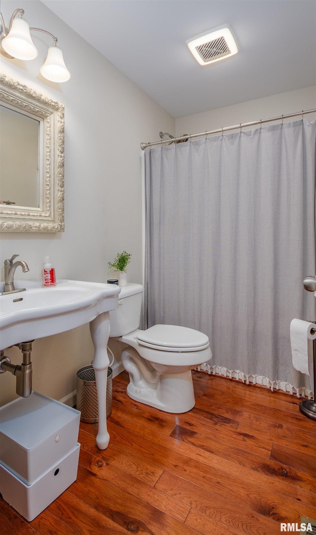
[[309,400],[313,399],[313,392],[305,386],[296,388],[294,385],[291,385],[286,381],[272,381],[268,377],[263,377],[261,375],[246,375],[240,370],[228,370],[223,366],[217,365],[210,366],[210,364],[207,364],[206,362],[204,362],[204,364],[201,364],[201,366],[198,366],[198,368],[196,368],[196,371],[206,372],[209,375],[219,375],[221,377],[228,377],[229,379],[236,379],[237,381],[245,383],[246,385],[252,383],[253,385],[258,384],[260,386],[266,386],[272,392],[274,390],[289,392],[292,395],[296,394],[297,398],[307,398]]

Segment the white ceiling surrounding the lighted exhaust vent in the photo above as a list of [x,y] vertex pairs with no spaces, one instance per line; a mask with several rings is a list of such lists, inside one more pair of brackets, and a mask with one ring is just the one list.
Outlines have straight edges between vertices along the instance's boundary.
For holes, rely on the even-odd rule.
[[[316,0],[43,3],[175,118],[316,84]],[[240,51],[199,66],[186,41],[223,24]]]

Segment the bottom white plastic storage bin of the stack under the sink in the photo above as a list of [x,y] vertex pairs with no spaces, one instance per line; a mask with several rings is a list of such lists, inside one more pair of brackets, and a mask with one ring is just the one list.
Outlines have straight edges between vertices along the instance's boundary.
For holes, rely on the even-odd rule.
[[3,499],[29,522],[68,488],[77,477],[80,444],[32,485],[26,485],[0,464]]

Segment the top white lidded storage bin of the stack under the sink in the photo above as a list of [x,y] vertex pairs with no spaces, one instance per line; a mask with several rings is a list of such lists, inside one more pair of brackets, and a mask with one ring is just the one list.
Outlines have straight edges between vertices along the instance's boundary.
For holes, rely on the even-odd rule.
[[77,445],[80,412],[32,392],[0,408],[0,464],[32,485]]

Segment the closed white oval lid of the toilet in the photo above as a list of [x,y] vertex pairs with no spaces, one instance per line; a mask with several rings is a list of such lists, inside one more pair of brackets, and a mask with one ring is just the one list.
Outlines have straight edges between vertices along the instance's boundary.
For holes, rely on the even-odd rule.
[[154,325],[138,332],[137,341],[141,346],[163,351],[199,351],[210,345],[206,334],[179,325]]

